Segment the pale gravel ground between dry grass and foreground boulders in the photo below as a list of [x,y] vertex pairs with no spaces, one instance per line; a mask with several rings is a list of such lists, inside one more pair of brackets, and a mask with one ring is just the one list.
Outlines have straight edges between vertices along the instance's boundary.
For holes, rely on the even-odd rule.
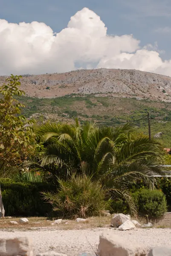
[[141,242],[148,249],[154,246],[171,245],[171,229],[136,229],[130,231],[118,231],[111,228],[98,228],[91,230],[32,230],[32,231],[8,231],[0,230],[0,238],[14,238],[28,236],[33,240],[34,256],[38,252],[54,250],[66,253],[68,256],[78,256],[87,252],[95,255],[99,243],[99,235],[103,232],[118,234],[122,239]]

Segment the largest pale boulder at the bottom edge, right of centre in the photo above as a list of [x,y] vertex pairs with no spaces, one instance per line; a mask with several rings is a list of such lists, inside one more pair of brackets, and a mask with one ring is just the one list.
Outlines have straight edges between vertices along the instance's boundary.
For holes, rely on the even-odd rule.
[[104,233],[100,236],[98,256],[146,256],[143,244],[125,240],[121,236]]

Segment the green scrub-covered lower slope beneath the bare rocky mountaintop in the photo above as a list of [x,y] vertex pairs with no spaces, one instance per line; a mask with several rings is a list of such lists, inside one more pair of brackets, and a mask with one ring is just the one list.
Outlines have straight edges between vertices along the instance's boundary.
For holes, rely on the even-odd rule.
[[[150,112],[151,134],[162,132],[158,139],[164,147],[171,148],[171,102],[157,102],[151,100],[137,100],[135,98],[116,98],[112,96],[63,96],[53,99],[38,99],[20,97],[26,105],[23,114],[33,115],[39,122],[52,120],[58,122],[73,122],[75,117],[79,121],[92,120],[100,124],[116,126],[122,122],[139,120]],[[167,121],[168,120],[168,121]],[[148,134],[148,120],[145,118],[134,123],[139,132]]]

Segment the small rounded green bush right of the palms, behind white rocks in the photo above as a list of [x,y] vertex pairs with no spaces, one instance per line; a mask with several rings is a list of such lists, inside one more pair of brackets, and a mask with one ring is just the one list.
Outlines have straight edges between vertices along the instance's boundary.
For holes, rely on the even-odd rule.
[[142,189],[132,197],[140,215],[159,218],[167,211],[165,195],[159,190]]

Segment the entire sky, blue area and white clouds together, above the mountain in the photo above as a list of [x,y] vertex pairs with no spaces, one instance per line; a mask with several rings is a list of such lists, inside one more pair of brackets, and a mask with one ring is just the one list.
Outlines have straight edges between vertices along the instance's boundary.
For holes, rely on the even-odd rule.
[[103,67],[171,76],[171,0],[0,0],[0,75]]

